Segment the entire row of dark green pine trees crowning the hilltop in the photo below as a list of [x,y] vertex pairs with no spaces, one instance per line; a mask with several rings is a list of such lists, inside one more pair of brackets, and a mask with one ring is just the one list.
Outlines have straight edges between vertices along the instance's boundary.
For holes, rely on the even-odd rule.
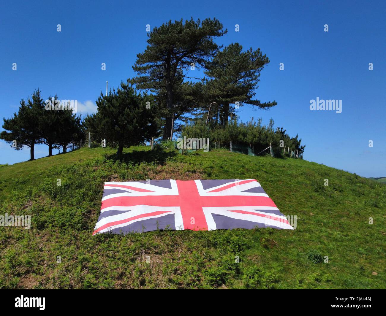
[[[96,102],[97,113],[81,121],[80,116],[70,111],[47,111],[40,91],[36,90],[27,102],[20,102],[18,113],[4,119],[5,130],[0,138],[15,149],[30,147],[34,159],[35,144],[47,144],[49,155],[52,148],[62,147],[66,152],[69,144],[85,139],[87,131],[94,140],[107,139],[117,145],[117,154],[121,154],[124,147],[152,137],[172,139],[173,133],[181,133],[188,120],[195,117],[202,124],[197,125],[195,131],[199,133],[193,137],[210,133],[219,141],[233,139],[230,131],[242,126],[232,121],[240,106],[269,109],[277,103],[263,103],[255,98],[268,57],[260,49],[243,51],[239,43],[218,46],[214,40],[226,33],[215,18],[192,18],[185,22],[181,19],[154,27],[147,34],[145,51],[137,54],[133,66],[137,76],[107,95],[101,93]],[[203,70],[202,78],[196,75],[198,69]],[[277,133],[269,127],[266,137],[266,133],[260,133],[263,129],[251,128],[251,124],[242,128],[247,133],[243,143],[266,144]],[[236,132],[238,137],[240,133]],[[300,142],[296,148],[301,149]]]

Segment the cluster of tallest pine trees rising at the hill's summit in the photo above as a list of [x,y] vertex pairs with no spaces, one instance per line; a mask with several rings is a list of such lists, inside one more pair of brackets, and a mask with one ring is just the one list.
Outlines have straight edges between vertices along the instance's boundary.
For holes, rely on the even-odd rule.
[[[226,33],[215,18],[192,18],[169,21],[148,34],[148,45],[133,66],[138,76],[129,82],[154,94],[162,109],[163,139],[180,132],[192,113],[206,124],[225,126],[244,104],[262,109],[277,104],[254,98],[268,57],[260,49],[243,51],[239,43],[218,46],[214,39]],[[197,69],[205,76],[196,75]]]

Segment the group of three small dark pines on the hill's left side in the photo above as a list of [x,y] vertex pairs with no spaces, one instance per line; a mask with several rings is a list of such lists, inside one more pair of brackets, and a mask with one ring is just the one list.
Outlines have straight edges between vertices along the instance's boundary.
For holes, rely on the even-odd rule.
[[[54,100],[58,100],[55,95]],[[52,100],[49,96],[48,100]],[[46,102],[41,97],[39,89],[32,96],[20,101],[18,112],[11,118],[3,119],[4,130],[0,139],[10,143],[16,150],[24,146],[30,148],[30,160],[34,160],[36,144],[46,144],[48,155],[52,156],[52,149],[62,148],[66,152],[68,145],[79,142],[84,134],[80,115],[71,110],[46,110]]]

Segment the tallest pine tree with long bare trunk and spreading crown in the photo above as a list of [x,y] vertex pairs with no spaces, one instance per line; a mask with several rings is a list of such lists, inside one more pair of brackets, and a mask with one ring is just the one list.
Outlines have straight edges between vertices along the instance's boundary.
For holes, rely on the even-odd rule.
[[148,34],[148,46],[144,52],[137,54],[133,66],[139,76],[131,82],[136,84],[137,89],[165,91],[164,105],[167,113],[164,139],[171,135],[175,94],[181,85],[181,76],[189,78],[187,71],[192,63],[195,68],[207,63],[210,56],[218,51],[213,39],[226,32],[215,18],[202,22],[191,18],[185,24],[182,19],[174,22],[170,20]]

